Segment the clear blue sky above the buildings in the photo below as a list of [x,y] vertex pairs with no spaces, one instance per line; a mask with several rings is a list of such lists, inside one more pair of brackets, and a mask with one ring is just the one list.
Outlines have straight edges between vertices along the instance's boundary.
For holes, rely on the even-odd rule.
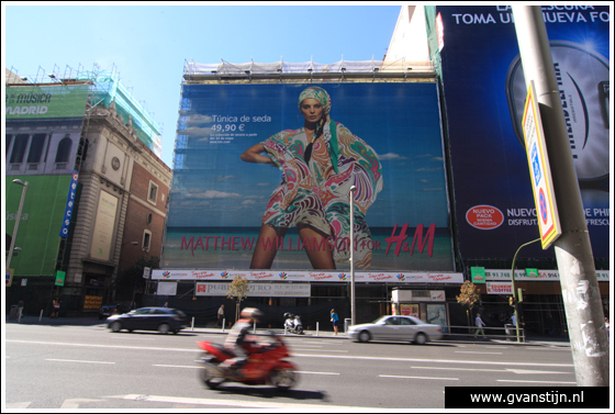
[[2,2],[3,66],[35,77],[64,74],[67,66],[115,65],[124,86],[163,126],[161,158],[169,167],[186,60],[381,60],[402,5],[47,4]]

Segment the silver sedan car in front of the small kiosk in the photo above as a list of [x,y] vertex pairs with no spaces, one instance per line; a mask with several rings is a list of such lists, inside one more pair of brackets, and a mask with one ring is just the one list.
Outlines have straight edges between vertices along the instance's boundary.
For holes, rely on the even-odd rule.
[[441,338],[441,326],[432,325],[414,316],[380,316],[370,324],[351,325],[348,336],[367,343],[378,340],[410,340],[424,345]]

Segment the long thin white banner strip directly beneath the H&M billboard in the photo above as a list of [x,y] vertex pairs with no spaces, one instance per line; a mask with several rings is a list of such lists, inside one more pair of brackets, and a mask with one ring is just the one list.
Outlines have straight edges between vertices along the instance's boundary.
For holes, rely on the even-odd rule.
[[[279,270],[152,270],[152,280],[227,280],[244,277],[248,281],[286,282],[350,282],[349,272],[333,271],[279,271]],[[401,273],[401,272],[355,272],[356,282],[391,283],[463,283],[463,273]]]

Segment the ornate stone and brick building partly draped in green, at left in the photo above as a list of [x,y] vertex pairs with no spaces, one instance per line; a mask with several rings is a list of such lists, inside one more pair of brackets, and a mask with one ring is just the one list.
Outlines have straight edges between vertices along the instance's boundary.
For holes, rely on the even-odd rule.
[[160,256],[171,172],[150,147],[156,139],[139,138],[152,134],[139,125],[155,123],[138,109],[118,109],[123,88],[105,89],[100,76],[7,85],[8,238],[22,193],[12,181],[29,182],[7,306],[23,300],[26,314],[47,313],[56,296],[60,314],[127,303],[134,289],[118,291],[121,270]]

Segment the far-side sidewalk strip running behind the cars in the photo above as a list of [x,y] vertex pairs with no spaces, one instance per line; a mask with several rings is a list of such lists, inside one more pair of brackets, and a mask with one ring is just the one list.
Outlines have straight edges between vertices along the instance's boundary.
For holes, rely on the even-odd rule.
[[[9,321],[7,317],[7,324],[25,324],[25,325],[48,325],[48,326],[100,326],[107,328],[107,322],[104,320],[100,321],[97,317],[58,317],[58,318],[51,318],[51,317],[42,317],[41,320],[38,316],[23,316],[21,322],[18,321]],[[198,333],[198,334],[220,334],[226,335],[228,334],[230,328],[226,327],[224,331],[219,327],[214,326],[194,326],[191,328],[190,325],[186,327],[182,332],[186,333]],[[258,333],[264,333],[267,331],[275,331],[276,333],[283,335],[284,329],[282,328],[257,328]],[[327,339],[348,339],[348,336],[345,333],[339,333],[337,336],[334,335],[333,331],[305,331],[304,335],[294,335],[288,334],[289,337],[320,337],[320,338],[327,338]],[[508,346],[551,346],[551,347],[570,347],[570,340],[568,338],[555,338],[555,337],[532,337],[526,338],[525,343],[517,343],[516,340],[506,340],[504,338],[447,338],[446,336],[437,340],[436,343],[444,343],[444,344],[492,344],[492,345],[508,345]]]

